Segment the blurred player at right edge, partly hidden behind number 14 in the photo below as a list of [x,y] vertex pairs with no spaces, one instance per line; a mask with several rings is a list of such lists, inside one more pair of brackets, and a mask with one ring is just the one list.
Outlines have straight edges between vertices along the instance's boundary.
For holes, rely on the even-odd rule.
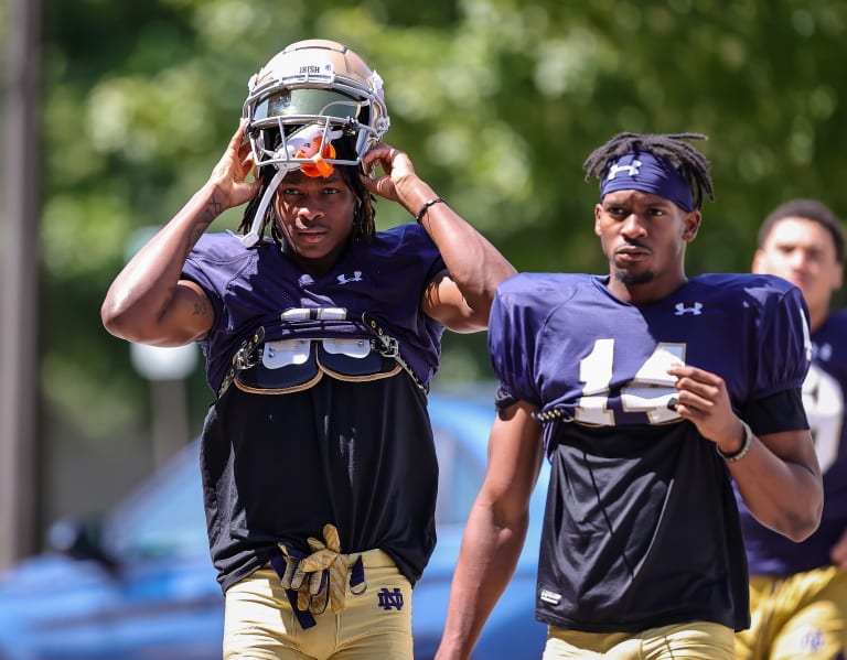
[[750,566],[752,625],[736,637],[740,660],[844,659],[847,650],[847,311],[829,311],[844,278],[844,230],[817,199],[791,199],[762,223],[753,272],[803,292],[812,367],[803,382],[824,475],[821,527],[802,543],[755,521],[739,498]]

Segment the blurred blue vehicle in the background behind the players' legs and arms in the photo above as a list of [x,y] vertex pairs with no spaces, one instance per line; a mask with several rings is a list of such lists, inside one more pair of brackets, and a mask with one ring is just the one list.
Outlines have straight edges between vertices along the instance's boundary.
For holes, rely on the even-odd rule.
[[[430,396],[440,463],[438,545],[415,586],[415,657],[441,638],[464,521],[485,473],[493,419],[486,403]],[[197,442],[98,521],[57,523],[64,552],[0,575],[0,660],[216,660],[224,599],[208,556]],[[526,548],[492,613],[476,660],[542,656],[535,573],[548,472],[533,498]]]

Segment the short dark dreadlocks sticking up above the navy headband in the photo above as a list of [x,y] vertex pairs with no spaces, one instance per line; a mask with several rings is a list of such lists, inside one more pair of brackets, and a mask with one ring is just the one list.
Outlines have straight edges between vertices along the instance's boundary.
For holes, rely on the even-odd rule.
[[586,181],[592,176],[602,178],[610,164],[620,156],[632,152],[647,152],[668,161],[694,191],[695,207],[703,207],[704,194],[715,201],[709,161],[694,147],[683,140],[708,140],[700,133],[619,133],[602,147],[594,149],[582,167]]

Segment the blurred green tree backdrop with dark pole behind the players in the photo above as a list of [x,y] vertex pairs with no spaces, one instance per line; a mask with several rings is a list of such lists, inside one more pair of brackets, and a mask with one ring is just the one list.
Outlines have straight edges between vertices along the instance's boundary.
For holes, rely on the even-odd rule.
[[[358,52],[385,79],[388,141],[519,270],[605,270],[581,164],[620,131],[709,136],[717,199],[689,275],[748,270],[789,197],[847,213],[838,0],[6,0],[0,34],[0,569],[200,431],[194,348],[132,348],[99,306],[290,42]],[[380,228],[409,219],[377,206]],[[437,386],[491,378],[484,334],[443,351]]]

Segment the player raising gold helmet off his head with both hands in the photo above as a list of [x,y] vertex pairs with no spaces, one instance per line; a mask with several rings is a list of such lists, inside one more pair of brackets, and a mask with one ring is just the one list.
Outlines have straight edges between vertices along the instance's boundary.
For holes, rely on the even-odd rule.
[[[382,142],[388,127],[383,80],[356,53],[289,45],[250,79],[208,181],[103,305],[119,337],[203,348],[227,659],[411,658],[411,586],[436,543],[427,392],[442,333],[484,329],[514,269]],[[417,221],[376,231],[375,195]],[[240,236],[207,231],[245,203]]]

